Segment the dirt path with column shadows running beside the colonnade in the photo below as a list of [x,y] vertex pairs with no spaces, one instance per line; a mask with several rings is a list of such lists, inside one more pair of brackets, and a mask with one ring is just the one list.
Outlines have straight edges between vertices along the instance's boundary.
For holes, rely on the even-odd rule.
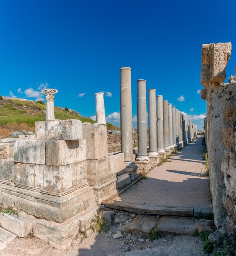
[[203,164],[202,137],[196,139],[161,166],[156,166],[148,179],[142,180],[114,200],[159,206],[194,207],[211,211],[209,178]]

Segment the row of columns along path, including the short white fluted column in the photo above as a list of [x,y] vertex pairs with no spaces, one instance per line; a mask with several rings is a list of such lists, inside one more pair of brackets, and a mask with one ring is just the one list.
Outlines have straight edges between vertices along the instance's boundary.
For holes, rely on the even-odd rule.
[[[196,138],[197,126],[186,118],[183,112],[156,96],[156,89],[148,90],[149,150],[147,148],[147,99],[146,80],[137,80],[137,121],[138,121],[138,155],[139,161],[149,157],[170,153],[174,148],[181,148]],[[96,121],[105,124],[105,107],[103,93],[96,93]],[[132,97],[131,68],[120,68],[120,133],[121,153],[125,162],[133,159],[132,137]]]

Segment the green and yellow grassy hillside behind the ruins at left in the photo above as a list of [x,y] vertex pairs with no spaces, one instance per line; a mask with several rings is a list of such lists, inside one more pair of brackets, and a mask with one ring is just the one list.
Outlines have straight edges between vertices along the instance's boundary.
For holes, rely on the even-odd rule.
[[[19,101],[13,99],[0,100],[0,137],[7,137],[13,131],[34,131],[36,121],[46,120],[46,104],[42,101]],[[95,121],[89,117],[81,117],[76,111],[66,111],[55,107],[56,119],[78,119],[80,121],[94,124]],[[118,127],[107,123],[107,129]],[[5,136],[4,136],[5,135]]]

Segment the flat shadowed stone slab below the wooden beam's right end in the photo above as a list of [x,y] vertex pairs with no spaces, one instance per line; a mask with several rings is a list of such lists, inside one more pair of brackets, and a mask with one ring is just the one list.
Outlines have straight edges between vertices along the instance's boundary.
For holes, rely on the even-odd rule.
[[192,235],[197,228],[195,220],[189,217],[162,216],[157,230],[164,234]]

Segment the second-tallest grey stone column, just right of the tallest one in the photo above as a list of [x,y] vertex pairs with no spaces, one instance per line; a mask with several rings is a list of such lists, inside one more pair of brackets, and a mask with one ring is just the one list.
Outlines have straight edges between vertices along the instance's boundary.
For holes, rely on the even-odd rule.
[[139,79],[138,83],[138,160],[149,160],[147,157],[147,102],[146,80]]

